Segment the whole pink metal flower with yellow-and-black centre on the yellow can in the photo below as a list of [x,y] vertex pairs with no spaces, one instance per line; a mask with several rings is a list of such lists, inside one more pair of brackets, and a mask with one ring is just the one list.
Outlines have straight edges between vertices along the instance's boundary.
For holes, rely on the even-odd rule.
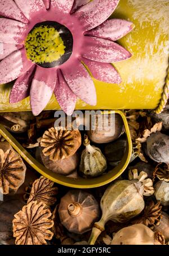
[[16,79],[10,103],[30,95],[36,116],[54,92],[72,114],[77,97],[96,105],[94,81],[121,83],[110,63],[130,52],[114,41],[129,33],[130,21],[110,19],[119,0],[1,0],[0,83]]

